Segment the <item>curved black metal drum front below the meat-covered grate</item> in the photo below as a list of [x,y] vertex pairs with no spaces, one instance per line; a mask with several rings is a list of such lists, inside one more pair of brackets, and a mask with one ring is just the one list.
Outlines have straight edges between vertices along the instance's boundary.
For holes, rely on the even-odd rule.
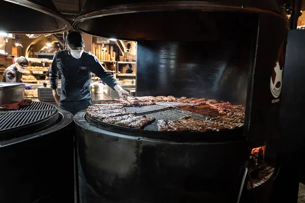
[[246,140],[155,140],[97,128],[84,115],[81,111],[74,116],[80,202],[179,202],[189,198],[226,202],[235,198],[239,170],[249,149]]

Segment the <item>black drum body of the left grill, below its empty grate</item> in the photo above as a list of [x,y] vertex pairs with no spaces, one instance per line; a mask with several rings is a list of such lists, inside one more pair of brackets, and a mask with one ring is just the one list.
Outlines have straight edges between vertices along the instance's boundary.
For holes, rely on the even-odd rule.
[[73,115],[54,111],[39,131],[0,141],[0,202],[74,202]]

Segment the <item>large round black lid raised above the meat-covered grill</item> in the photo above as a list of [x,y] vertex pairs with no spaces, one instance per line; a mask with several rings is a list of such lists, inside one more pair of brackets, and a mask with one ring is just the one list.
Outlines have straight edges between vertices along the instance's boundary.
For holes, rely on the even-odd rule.
[[73,27],[90,35],[122,40],[198,41],[242,26],[238,17],[247,12],[282,15],[275,0],[131,0],[128,4],[121,0],[87,0]]

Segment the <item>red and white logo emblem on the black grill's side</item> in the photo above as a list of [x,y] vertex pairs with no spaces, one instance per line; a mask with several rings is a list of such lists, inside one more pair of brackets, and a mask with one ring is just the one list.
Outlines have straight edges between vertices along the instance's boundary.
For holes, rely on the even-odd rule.
[[282,90],[282,81],[283,81],[283,69],[284,69],[284,55],[283,55],[283,45],[282,42],[278,54],[278,58],[275,61],[275,66],[272,69],[272,75],[270,78],[270,90],[273,97],[278,98]]

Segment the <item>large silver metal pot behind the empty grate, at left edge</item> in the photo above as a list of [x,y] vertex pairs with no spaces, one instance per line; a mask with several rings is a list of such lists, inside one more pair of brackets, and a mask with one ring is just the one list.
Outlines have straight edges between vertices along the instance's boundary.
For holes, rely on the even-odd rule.
[[0,82],[0,104],[13,104],[24,99],[23,83]]

